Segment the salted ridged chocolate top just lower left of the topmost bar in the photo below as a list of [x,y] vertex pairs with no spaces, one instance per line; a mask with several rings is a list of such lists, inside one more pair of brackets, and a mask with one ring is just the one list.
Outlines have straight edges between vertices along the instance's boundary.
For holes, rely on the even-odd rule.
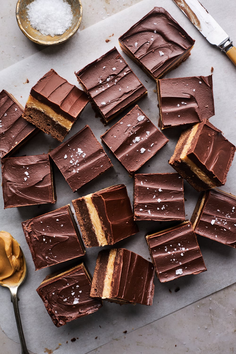
[[115,47],[76,77],[107,122],[147,91]]

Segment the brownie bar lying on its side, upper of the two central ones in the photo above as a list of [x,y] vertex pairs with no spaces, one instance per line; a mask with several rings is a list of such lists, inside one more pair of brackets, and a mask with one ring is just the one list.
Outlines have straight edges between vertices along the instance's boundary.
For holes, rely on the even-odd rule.
[[72,200],[87,247],[113,245],[139,229],[124,184]]

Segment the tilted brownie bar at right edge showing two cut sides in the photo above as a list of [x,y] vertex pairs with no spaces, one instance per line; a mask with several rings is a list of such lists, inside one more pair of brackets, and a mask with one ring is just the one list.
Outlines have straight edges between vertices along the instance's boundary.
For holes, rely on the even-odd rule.
[[196,190],[224,185],[235,154],[231,144],[208,120],[182,132],[169,164]]

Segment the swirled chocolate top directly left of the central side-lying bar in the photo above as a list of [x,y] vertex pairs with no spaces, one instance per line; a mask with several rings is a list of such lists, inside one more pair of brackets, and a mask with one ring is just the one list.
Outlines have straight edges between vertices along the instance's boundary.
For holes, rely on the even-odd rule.
[[85,254],[70,205],[24,221],[22,227],[35,270]]

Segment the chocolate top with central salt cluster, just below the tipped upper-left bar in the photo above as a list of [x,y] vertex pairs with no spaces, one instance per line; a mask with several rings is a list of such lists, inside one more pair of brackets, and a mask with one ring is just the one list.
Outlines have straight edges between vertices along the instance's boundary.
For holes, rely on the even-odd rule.
[[49,155],[73,192],[113,166],[88,125]]

